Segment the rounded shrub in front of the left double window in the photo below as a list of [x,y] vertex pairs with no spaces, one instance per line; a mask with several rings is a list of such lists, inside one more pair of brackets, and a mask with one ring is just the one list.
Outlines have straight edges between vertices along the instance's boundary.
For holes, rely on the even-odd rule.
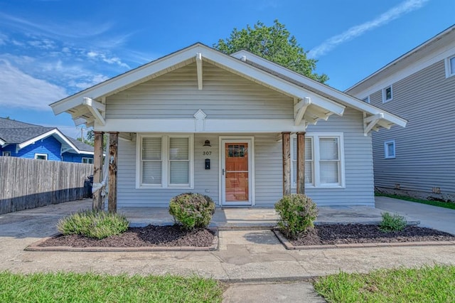
[[206,228],[215,213],[215,203],[200,193],[182,193],[171,198],[169,213],[184,228]]

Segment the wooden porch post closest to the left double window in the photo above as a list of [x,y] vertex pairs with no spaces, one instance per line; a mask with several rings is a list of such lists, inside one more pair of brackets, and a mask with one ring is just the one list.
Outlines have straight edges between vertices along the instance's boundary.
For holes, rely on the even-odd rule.
[[117,213],[117,151],[119,133],[109,132],[109,194],[107,195],[107,210]]

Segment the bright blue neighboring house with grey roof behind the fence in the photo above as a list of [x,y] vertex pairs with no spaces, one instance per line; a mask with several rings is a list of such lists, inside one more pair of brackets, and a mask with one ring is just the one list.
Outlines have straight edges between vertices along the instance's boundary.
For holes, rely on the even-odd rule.
[[55,127],[0,118],[0,156],[93,163],[93,147]]

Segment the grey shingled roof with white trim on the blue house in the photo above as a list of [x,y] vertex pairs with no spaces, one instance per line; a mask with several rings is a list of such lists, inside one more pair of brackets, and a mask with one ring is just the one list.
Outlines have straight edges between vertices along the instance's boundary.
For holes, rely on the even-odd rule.
[[93,147],[66,137],[55,127],[43,127],[12,119],[0,118],[0,145],[17,144],[18,149],[23,149],[34,142],[53,136],[65,149],[74,150],[77,154],[93,154]]

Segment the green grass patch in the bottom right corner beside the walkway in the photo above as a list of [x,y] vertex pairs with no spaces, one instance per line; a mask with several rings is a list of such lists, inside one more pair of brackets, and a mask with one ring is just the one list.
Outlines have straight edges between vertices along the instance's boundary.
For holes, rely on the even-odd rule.
[[328,302],[455,302],[455,266],[340,272],[319,278],[314,288]]

